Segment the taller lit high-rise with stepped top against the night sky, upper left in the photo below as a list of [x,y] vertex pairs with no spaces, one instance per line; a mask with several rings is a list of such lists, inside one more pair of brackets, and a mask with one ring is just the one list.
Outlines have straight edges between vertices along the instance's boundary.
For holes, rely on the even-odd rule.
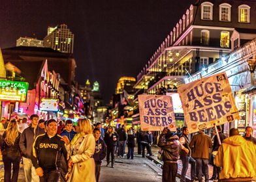
[[44,47],[51,47],[61,53],[73,53],[74,34],[65,24],[48,27],[48,34],[44,37]]

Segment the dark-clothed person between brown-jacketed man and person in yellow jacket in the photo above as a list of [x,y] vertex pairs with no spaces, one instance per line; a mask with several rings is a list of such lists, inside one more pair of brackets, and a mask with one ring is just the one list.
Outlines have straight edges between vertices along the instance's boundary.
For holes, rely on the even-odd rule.
[[[227,138],[223,133],[221,133],[221,126],[220,125],[217,125],[217,133],[219,134],[219,139],[221,140],[221,143],[222,141]],[[219,141],[217,139],[217,135],[214,136],[214,145],[212,146],[212,151],[217,151],[219,149]],[[212,174],[212,178],[210,180],[213,180],[215,181],[216,179],[219,180],[219,172],[221,171],[221,168],[217,167],[216,165],[214,165],[214,172]]]

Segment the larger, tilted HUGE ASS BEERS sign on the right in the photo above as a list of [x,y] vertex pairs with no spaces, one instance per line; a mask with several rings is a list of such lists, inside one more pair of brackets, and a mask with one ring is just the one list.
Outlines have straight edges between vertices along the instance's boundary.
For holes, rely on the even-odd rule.
[[178,87],[189,133],[239,120],[226,73]]

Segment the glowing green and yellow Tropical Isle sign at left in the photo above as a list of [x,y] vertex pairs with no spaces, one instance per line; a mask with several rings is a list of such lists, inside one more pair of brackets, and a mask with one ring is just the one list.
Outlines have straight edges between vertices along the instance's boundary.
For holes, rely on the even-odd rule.
[[0,80],[0,100],[25,102],[29,83]]

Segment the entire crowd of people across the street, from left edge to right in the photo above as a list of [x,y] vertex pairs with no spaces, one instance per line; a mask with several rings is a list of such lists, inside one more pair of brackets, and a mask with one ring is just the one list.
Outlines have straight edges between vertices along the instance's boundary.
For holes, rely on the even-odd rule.
[[[103,128],[101,123],[93,126],[85,118],[74,126],[72,120],[39,120],[37,114],[31,115],[29,121],[2,118],[0,131],[5,181],[18,181],[21,161],[25,181],[99,181],[105,157],[106,166],[114,168],[115,156],[124,158],[126,145],[127,159],[134,159],[135,138],[142,157],[152,155],[155,142],[151,131],[135,132],[133,127],[126,130],[125,125]],[[176,180],[178,159],[182,161],[181,181],[186,181],[189,164],[191,181],[251,181],[256,170],[252,128],[246,127],[244,136],[238,129],[231,129],[227,137],[217,126],[213,134],[210,138],[199,131],[190,140],[187,127],[176,133],[165,128],[157,142],[162,149],[163,182]],[[212,178],[208,172],[210,157],[214,161]]]

